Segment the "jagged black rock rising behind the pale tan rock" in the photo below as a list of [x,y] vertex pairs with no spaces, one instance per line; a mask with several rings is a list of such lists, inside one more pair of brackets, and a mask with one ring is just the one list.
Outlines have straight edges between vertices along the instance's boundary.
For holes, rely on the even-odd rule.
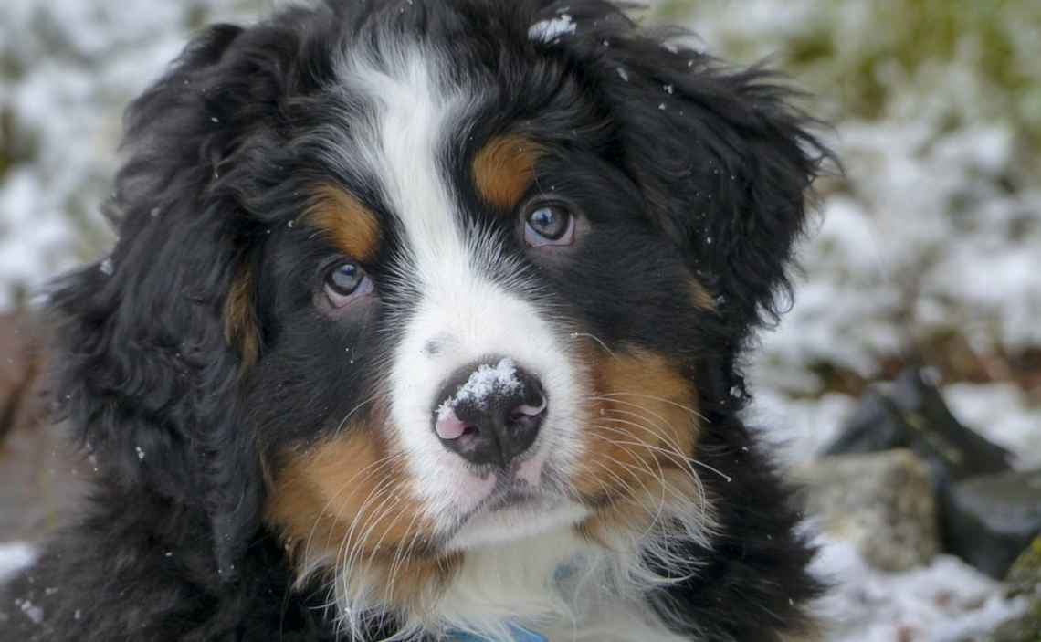
[[955,418],[940,391],[916,369],[885,392],[871,390],[826,455],[910,448],[933,472],[941,491],[950,482],[1009,469],[1010,453]]

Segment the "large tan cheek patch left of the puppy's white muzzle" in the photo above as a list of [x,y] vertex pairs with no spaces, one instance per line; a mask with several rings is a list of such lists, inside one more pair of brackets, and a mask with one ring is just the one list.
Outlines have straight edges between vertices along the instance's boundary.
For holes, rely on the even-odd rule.
[[411,495],[401,456],[379,431],[356,425],[342,435],[288,456],[269,493],[265,520],[301,567],[309,556],[337,564],[353,556],[364,572],[349,582],[418,609],[454,576],[462,557],[432,548],[432,524]]

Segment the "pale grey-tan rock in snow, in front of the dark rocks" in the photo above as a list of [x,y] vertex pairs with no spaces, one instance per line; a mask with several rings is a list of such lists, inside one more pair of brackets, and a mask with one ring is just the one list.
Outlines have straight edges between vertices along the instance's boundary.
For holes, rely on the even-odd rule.
[[925,565],[939,550],[926,465],[907,450],[822,458],[794,472],[806,510],[887,571]]

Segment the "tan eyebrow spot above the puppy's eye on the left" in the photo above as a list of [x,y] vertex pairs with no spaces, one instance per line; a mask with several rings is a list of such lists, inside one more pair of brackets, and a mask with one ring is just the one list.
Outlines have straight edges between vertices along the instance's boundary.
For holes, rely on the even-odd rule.
[[314,189],[305,214],[346,256],[359,261],[376,258],[380,225],[376,214],[354,196],[333,185]]

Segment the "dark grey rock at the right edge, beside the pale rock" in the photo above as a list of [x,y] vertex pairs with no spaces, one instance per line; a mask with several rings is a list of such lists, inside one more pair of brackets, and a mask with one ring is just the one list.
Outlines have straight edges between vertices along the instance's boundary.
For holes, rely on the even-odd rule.
[[959,482],[943,503],[947,549],[992,577],[1002,577],[1041,534],[1041,469]]

